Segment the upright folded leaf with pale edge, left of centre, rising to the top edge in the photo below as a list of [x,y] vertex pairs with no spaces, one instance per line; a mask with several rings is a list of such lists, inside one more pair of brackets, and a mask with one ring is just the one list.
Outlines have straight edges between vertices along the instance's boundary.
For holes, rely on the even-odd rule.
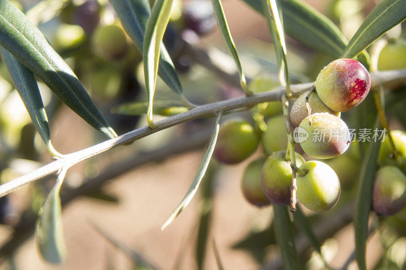
[[174,0],[157,0],[152,7],[151,16],[148,18],[145,27],[143,43],[144,77],[148,99],[147,123],[151,128],[156,127],[152,120],[152,101],[154,99],[160,47],[173,3]]

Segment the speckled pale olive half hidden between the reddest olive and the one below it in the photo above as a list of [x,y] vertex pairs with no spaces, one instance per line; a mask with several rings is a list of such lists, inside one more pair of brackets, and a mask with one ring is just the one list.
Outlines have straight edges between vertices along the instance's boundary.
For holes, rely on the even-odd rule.
[[[293,103],[293,106],[290,110],[290,122],[292,123],[293,128],[297,128],[301,121],[307,117],[308,109],[306,106],[306,96],[308,93],[303,93],[296,101]],[[313,92],[309,97],[309,106],[311,113],[317,112],[328,112],[336,117],[340,117],[340,112],[333,111],[327,107],[319,98],[316,92]]]

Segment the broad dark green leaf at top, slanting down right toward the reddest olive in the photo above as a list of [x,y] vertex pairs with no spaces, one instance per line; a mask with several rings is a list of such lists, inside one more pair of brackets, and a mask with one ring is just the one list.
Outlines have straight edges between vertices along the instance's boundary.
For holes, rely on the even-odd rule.
[[[243,0],[264,15],[262,0]],[[310,5],[297,0],[281,1],[285,31],[310,48],[339,58],[347,45],[340,29],[326,16]]]

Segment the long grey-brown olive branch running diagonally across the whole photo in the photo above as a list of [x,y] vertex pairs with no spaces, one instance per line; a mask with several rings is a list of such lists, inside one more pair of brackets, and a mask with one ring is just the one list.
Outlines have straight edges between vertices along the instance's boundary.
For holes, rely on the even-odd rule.
[[[377,71],[371,74],[373,79],[373,86],[380,85],[383,83],[406,79],[406,69],[401,70],[388,70],[388,71]],[[374,85],[375,84],[375,85]],[[298,96],[299,94],[309,91],[313,87],[314,83],[304,83],[304,84],[295,84],[291,85],[291,90],[293,96]],[[234,109],[239,109],[243,107],[254,106],[258,103],[276,101],[280,100],[282,95],[286,92],[285,87],[277,87],[275,90],[256,94],[253,96],[242,96],[233,99],[228,99],[224,101],[213,102],[201,106],[197,106],[193,109],[190,109],[187,112],[179,113],[173,117],[168,117],[164,120],[156,122],[157,128],[151,129],[148,126],[127,132],[116,138],[101,142],[99,144],[93,145],[86,149],[73,152],[67,155],[63,155],[60,159],[47,164],[33,172],[15,178],[5,184],[0,185],[0,197],[8,194],[9,192],[20,188],[32,181],[43,178],[44,176],[50,175],[54,172],[57,172],[62,167],[71,167],[75,164],[78,164],[82,161],[85,161],[89,158],[95,157],[104,153],[112,148],[115,148],[119,145],[129,144],[138,139],[144,138],[148,135],[167,129],[178,124],[181,124],[186,121],[191,121],[198,118],[204,117],[214,117],[219,111],[231,111]]]

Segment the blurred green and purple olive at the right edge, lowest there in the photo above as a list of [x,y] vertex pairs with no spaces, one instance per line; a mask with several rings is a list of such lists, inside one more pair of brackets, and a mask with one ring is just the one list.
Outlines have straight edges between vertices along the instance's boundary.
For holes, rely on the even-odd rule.
[[406,175],[395,166],[378,170],[372,207],[383,216],[399,212],[406,205]]

